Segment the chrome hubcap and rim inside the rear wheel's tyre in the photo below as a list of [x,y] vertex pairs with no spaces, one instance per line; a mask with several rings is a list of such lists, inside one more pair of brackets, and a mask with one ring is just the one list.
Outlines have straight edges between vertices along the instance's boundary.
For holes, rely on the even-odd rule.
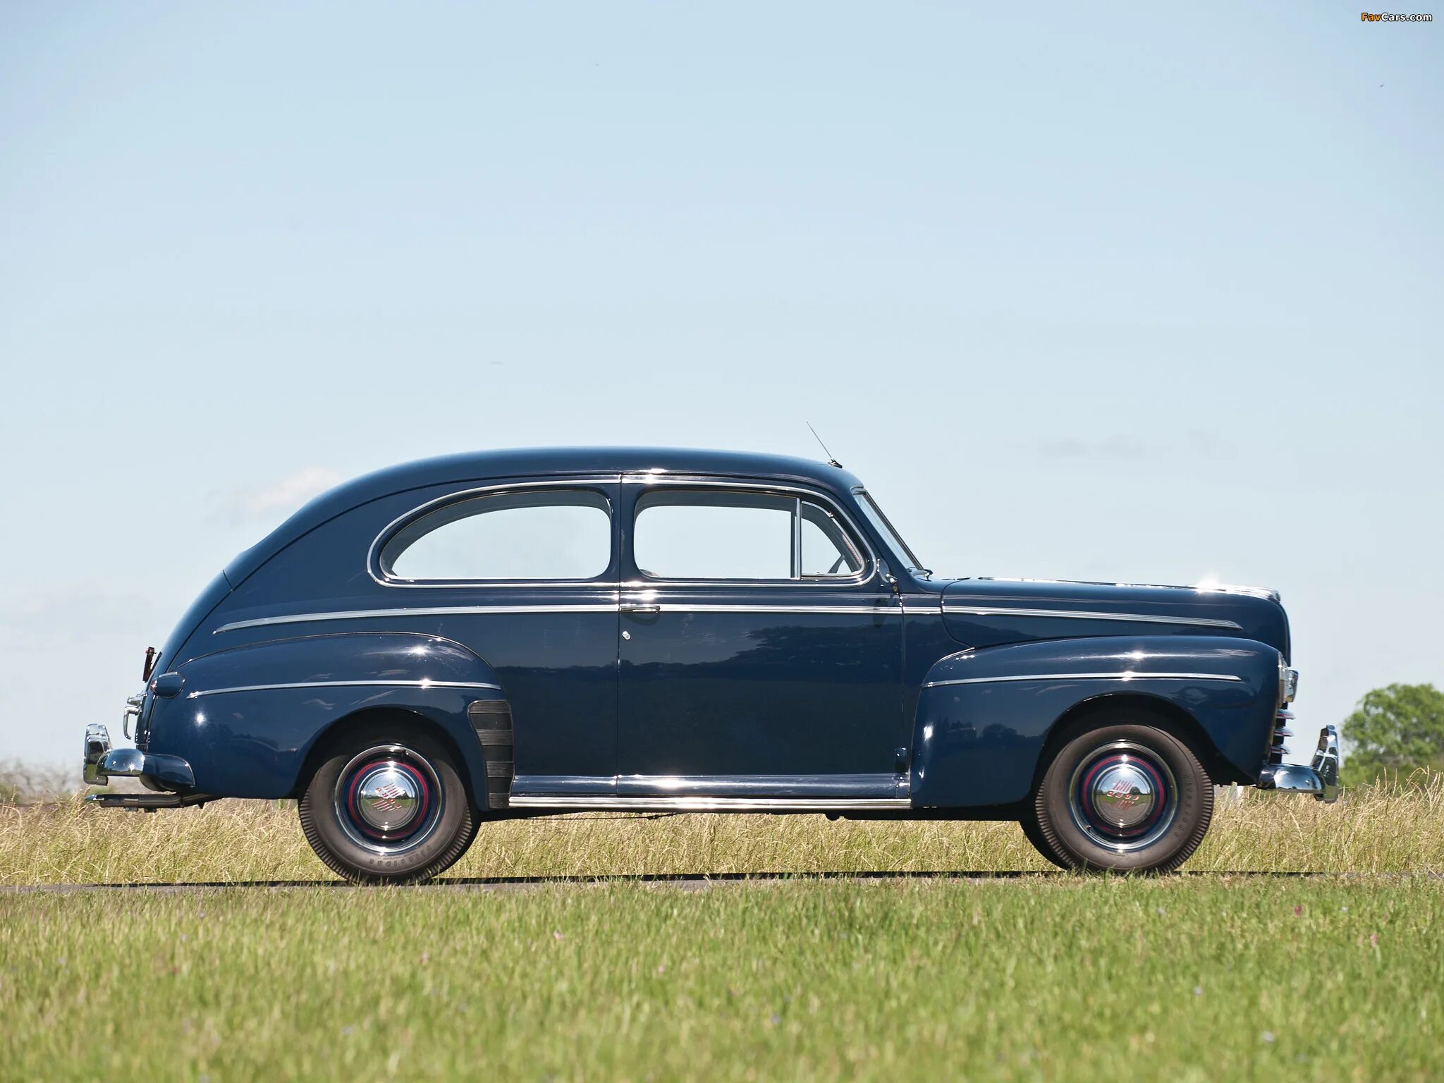
[[352,757],[336,775],[342,830],[377,853],[401,853],[425,842],[440,820],[436,771],[404,745],[378,745]]

